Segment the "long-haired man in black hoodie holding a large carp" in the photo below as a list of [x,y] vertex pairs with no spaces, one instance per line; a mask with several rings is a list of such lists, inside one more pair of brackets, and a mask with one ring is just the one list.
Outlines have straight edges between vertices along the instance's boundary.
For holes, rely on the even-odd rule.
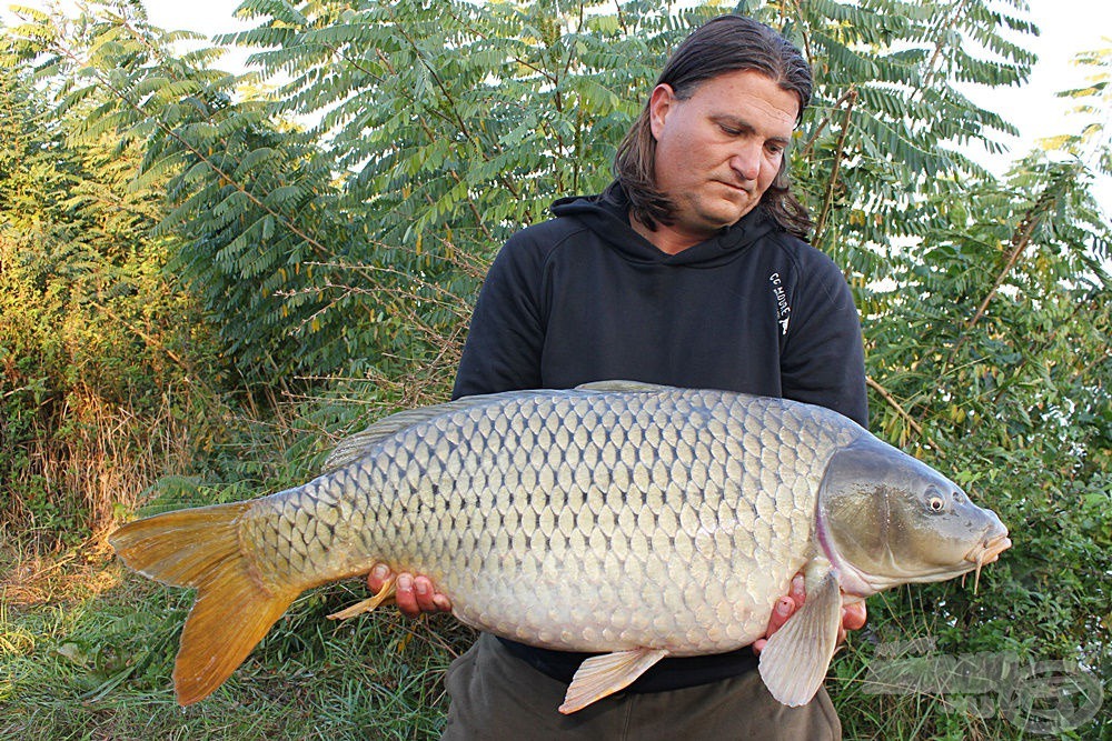
[[[553,206],[515,234],[484,283],[454,397],[628,379],[822,404],[865,424],[861,328],[834,263],[806,244],[785,151],[811,97],[797,49],[751,19],[717,18],[675,51],[600,196]],[[388,575],[379,568],[369,582]],[[575,579],[569,564],[568,579]],[[770,634],[802,603],[802,579]],[[407,614],[449,609],[399,577]],[[864,623],[854,608],[844,627]],[[755,652],[666,659],[623,693],[556,712],[583,654],[484,634],[448,670],[447,739],[838,738],[821,690],[786,708]]]

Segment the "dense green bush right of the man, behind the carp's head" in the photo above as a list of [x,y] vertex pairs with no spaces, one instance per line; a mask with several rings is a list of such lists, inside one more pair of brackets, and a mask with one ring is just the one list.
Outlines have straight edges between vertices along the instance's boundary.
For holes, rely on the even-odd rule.
[[[1093,159],[1106,157],[1109,132],[1084,131]],[[1109,731],[1100,715],[1065,723],[1053,709],[1074,703],[1070,712],[1092,718],[1092,678],[1105,697],[1112,678],[1112,362],[1102,350],[1112,340],[1112,234],[1076,157],[1079,140],[1064,141],[1063,152],[1019,161],[1003,182],[940,183],[929,203],[944,223],[894,262],[892,288],[872,297],[876,319],[866,331],[883,393],[874,428],[953,471],[1012,525],[1015,542],[986,572],[981,595],[952,585],[901,591],[878,620],[874,613],[877,631],[893,640],[888,624],[921,614],[924,634],[951,653],[1015,655],[1031,668],[1079,662],[1089,672],[1072,675],[1090,682],[1089,699],[1045,694],[1051,679],[1011,688],[1044,693],[1042,705],[1025,709],[1030,718],[1007,717],[1010,702],[1023,704],[1019,695],[990,695],[977,723],[990,738],[1001,732],[1001,713],[1029,730],[1048,722],[1060,732],[1081,725],[1081,738]]]

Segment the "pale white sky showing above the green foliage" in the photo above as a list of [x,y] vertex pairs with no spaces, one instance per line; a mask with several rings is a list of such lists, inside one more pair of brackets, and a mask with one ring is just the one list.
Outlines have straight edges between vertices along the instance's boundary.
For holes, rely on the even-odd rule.
[[[996,174],[1034,147],[1040,138],[1076,133],[1081,124],[1066,116],[1070,104],[1054,93],[1080,87],[1082,72],[1070,63],[1082,50],[1112,46],[1112,1],[1110,0],[1027,0],[1031,17],[1041,33],[1029,43],[1039,56],[1029,82],[1021,88],[972,89],[967,94],[1005,120],[1015,123],[1019,138],[1004,138],[1007,152],[990,156],[981,151],[969,154]],[[22,0],[20,4],[41,7],[42,0]],[[151,23],[165,29],[186,29],[206,36],[249,28],[232,17],[236,0],[145,0]],[[1102,38],[1104,41],[1102,42]],[[225,64],[242,63],[247,52],[237,51]],[[1112,111],[1109,111],[1112,114]],[[1112,121],[1109,122],[1112,130]],[[1103,183],[1099,192],[1108,194],[1106,213],[1112,213],[1112,183]]]

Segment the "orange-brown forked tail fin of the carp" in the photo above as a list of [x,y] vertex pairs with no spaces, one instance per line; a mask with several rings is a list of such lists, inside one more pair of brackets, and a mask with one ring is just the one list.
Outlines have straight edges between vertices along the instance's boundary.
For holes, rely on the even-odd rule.
[[240,545],[240,517],[251,502],[215,504],[130,522],[109,537],[129,567],[197,599],[173,665],[185,707],[211,694],[244,662],[302,591],[265,584]]

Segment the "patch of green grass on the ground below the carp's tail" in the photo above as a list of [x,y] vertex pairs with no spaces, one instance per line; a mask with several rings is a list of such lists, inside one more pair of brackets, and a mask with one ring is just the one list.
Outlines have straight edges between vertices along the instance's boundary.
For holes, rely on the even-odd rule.
[[224,687],[181,709],[170,673],[191,594],[96,543],[38,565],[0,554],[0,738],[437,738],[440,678],[470,640],[450,619],[393,610],[330,621],[358,597],[337,584],[299,599]]

